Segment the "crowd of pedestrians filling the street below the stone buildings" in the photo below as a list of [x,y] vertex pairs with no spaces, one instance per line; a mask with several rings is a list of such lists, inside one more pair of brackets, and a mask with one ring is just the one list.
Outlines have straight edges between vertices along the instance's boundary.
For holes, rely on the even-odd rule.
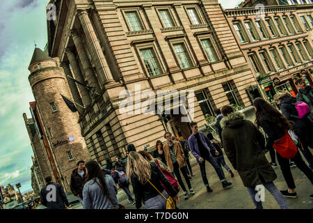
[[[190,153],[195,157],[207,192],[213,192],[206,174],[205,161],[214,168],[223,188],[232,188],[225,178],[224,171],[234,177],[232,169],[239,174],[243,185],[255,204],[262,209],[262,201],[257,199],[257,185],[264,185],[282,209],[289,209],[285,197],[296,198],[296,185],[291,167],[298,167],[313,184],[313,90],[306,86],[305,80],[296,80],[299,93],[296,98],[290,93],[280,92],[274,97],[279,109],[263,98],[253,101],[255,123],[245,119],[230,105],[215,109],[218,139],[209,133],[198,131],[198,123],[191,121],[191,135],[188,140],[180,140],[166,132],[164,142],[157,140],[154,151],[137,151],[134,144],[127,146],[125,160],[115,158],[115,167],[103,168],[96,161],[77,162],[72,171],[70,188],[85,209],[124,209],[118,203],[118,187],[122,189],[131,205],[136,208],[145,205],[147,209],[165,209],[173,201],[177,208],[179,190],[182,188],[184,199],[195,194],[191,179],[195,174],[189,161]],[[264,132],[264,133],[262,133]],[[232,169],[225,163],[222,148]],[[271,162],[266,153],[269,151]],[[307,160],[307,165],[300,152]],[[277,175],[273,168],[278,167],[288,187],[278,190],[273,183]],[[188,190],[184,184],[182,176]],[[48,208],[69,208],[63,188],[46,178],[47,185],[42,188],[42,204]],[[47,201],[47,187],[56,187],[56,201]],[[117,186],[118,185],[118,186]],[[132,186],[134,198],[129,190]],[[313,194],[308,194],[313,199]],[[52,203],[51,203],[52,202]]]

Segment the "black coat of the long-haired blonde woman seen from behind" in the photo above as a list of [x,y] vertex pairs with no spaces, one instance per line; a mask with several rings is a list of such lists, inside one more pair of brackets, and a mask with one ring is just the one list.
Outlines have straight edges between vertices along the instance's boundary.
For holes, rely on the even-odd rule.
[[[151,177],[149,179],[150,182],[155,187],[157,187],[159,192],[162,192],[164,189],[160,183],[161,180],[163,185],[165,185],[168,191],[170,192],[171,196],[175,197],[178,192],[174,189],[174,187],[172,187],[168,178],[164,176],[164,174],[161,172],[161,170],[159,169],[155,162],[150,162],[150,165],[152,171]],[[135,194],[136,208],[141,208],[142,201],[147,201],[147,199],[159,195],[159,192],[157,192],[157,190],[155,190],[155,188],[152,187],[152,185],[150,185],[149,182],[146,182],[145,184],[140,183],[138,180],[138,176],[135,173],[131,174],[131,185],[133,186],[133,191]]]

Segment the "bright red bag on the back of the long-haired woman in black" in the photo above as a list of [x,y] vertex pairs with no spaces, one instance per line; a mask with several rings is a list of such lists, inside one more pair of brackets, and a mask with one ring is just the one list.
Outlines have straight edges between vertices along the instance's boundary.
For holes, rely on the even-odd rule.
[[279,155],[285,159],[290,160],[298,152],[298,148],[294,141],[291,139],[290,134],[286,132],[283,137],[276,140],[273,144],[275,150]]

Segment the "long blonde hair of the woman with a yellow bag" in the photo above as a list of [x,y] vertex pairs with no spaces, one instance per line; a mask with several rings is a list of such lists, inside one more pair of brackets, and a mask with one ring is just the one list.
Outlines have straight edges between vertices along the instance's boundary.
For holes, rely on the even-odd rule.
[[145,160],[141,154],[131,151],[128,155],[126,172],[129,181],[131,181],[131,175],[135,173],[138,176],[139,182],[144,184],[147,182],[147,179],[150,179],[152,170],[150,162]]

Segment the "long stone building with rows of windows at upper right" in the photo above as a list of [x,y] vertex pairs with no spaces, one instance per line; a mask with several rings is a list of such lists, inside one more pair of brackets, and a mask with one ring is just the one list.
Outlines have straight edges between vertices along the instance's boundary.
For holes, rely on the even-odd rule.
[[265,6],[259,9],[234,8],[225,16],[237,43],[253,68],[268,100],[277,91],[287,90],[294,96],[297,77],[305,77],[312,85],[312,38],[298,14],[305,6]]

